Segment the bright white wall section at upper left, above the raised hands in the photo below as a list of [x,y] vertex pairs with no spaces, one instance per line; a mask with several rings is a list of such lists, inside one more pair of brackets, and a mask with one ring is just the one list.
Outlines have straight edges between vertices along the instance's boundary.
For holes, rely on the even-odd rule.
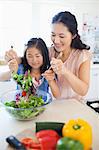
[[32,5],[24,1],[0,1],[0,56],[11,45],[19,52],[32,33]]

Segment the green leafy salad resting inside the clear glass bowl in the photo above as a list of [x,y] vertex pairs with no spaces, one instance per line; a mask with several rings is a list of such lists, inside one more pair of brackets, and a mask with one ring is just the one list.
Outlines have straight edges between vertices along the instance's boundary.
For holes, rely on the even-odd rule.
[[[17,95],[18,96],[18,95]],[[19,100],[5,102],[7,106],[7,111],[19,120],[28,120],[31,119],[45,110],[44,101],[42,97],[29,96],[27,100],[26,97],[21,97]]]

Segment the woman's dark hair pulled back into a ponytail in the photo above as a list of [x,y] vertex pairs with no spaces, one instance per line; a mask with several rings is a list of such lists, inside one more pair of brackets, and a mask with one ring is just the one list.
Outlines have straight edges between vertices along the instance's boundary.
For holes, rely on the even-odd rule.
[[80,35],[78,34],[77,30],[78,27],[77,20],[73,14],[71,14],[68,11],[60,12],[53,17],[52,24],[54,23],[63,23],[64,26],[66,26],[68,30],[72,33],[72,35],[74,36],[74,39],[72,40],[71,43],[72,48],[76,48],[79,50],[90,49],[90,47],[84,44],[80,39]]

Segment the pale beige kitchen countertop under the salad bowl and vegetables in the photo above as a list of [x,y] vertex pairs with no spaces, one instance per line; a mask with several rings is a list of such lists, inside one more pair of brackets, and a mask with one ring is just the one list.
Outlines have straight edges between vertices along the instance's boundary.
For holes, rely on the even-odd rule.
[[16,135],[27,128],[34,129],[36,121],[67,122],[76,118],[82,118],[90,123],[93,131],[93,150],[98,150],[99,116],[90,107],[75,99],[53,100],[37,119],[31,121],[15,120],[3,108],[0,108],[0,148],[5,150],[6,137]]

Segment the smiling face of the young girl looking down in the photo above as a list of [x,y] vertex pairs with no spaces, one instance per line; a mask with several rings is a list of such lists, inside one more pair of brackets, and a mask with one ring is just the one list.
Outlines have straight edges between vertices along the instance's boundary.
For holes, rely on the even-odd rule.
[[40,67],[43,65],[43,56],[40,50],[38,50],[35,47],[31,47],[27,49],[26,59],[27,59],[28,64],[33,69],[39,70]]

